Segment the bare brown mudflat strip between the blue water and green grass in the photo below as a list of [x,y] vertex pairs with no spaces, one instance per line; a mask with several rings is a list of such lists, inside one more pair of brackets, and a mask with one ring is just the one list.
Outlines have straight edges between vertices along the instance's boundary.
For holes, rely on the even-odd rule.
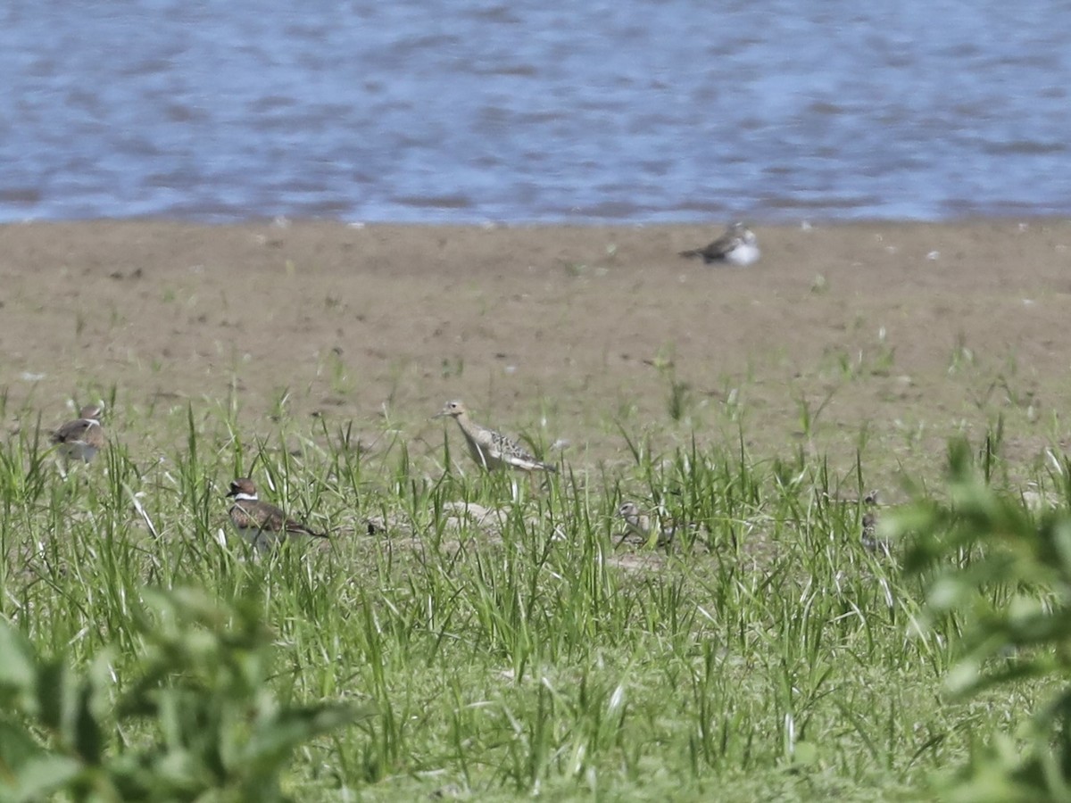
[[146,407],[233,392],[253,422],[286,389],[358,422],[464,397],[600,455],[605,422],[669,422],[678,381],[688,423],[733,406],[773,443],[826,396],[834,440],[1005,411],[1028,453],[1062,439],[1071,223],[757,231],[741,270],[676,256],[720,233],[699,226],[7,225],[0,391],[45,424],[112,384]]

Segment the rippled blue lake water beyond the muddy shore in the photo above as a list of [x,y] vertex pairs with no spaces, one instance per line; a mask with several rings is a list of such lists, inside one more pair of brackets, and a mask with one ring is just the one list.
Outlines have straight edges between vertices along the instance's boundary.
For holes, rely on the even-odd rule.
[[10,0],[0,221],[1066,214],[1069,43],[1057,0]]

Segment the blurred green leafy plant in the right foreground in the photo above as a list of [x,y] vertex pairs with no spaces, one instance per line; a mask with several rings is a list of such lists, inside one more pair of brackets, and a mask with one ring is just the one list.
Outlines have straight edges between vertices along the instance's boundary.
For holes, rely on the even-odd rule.
[[1017,727],[976,730],[947,797],[1071,800],[1071,464],[1054,460],[1040,494],[1014,493],[992,482],[999,442],[986,437],[977,460],[954,442],[948,499],[917,503],[892,529],[914,540],[907,567],[926,578],[920,625],[954,622],[962,633],[947,692],[1044,692]]

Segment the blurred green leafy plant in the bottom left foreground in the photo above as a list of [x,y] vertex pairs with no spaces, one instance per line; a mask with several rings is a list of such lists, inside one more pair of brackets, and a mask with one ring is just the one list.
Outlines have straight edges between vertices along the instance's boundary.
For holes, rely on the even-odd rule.
[[174,590],[146,594],[133,619],[136,668],[118,683],[115,647],[78,669],[0,623],[4,800],[290,800],[290,753],[359,714],[292,704],[267,686],[269,641],[253,606]]

